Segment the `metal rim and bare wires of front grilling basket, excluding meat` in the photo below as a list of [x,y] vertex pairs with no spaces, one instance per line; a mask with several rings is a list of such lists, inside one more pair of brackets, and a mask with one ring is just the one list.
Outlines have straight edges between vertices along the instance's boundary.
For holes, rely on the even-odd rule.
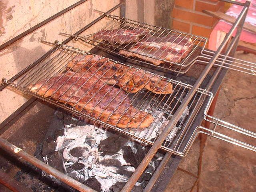
[[[79,116],[83,116],[85,118],[88,118],[90,120],[93,120],[94,122],[98,122],[100,124],[103,124],[104,126],[106,127],[109,127],[109,128],[113,128],[119,132],[122,132],[124,134],[127,134],[129,136],[132,136],[133,138],[136,138],[138,140],[141,140],[142,142],[145,142],[145,143],[148,143],[148,144],[151,144],[153,145],[154,142],[156,141],[157,137],[160,135],[160,130],[163,130],[164,129],[164,125],[167,124],[168,121],[170,121],[170,119],[172,118],[174,112],[175,112],[175,108],[177,108],[179,106],[179,102],[182,102],[181,100],[186,96],[188,90],[190,90],[192,88],[191,85],[189,84],[184,84],[180,81],[176,81],[176,80],[172,80],[172,79],[168,79],[168,82],[171,82],[172,85],[173,85],[173,92],[171,94],[156,94],[154,93],[154,96],[153,98],[149,98],[150,94],[152,94],[152,92],[150,91],[147,91],[146,94],[142,97],[146,97],[144,98],[144,100],[142,100],[141,102],[139,102],[139,108],[137,107],[137,112],[141,111],[141,107],[142,105],[144,104],[144,102],[148,102],[148,104],[146,104],[146,106],[148,106],[149,104],[151,104],[150,102],[153,101],[154,98],[156,98],[156,100],[154,100],[154,103],[152,106],[150,106],[150,111],[153,112],[153,106],[156,106],[156,108],[159,107],[160,102],[162,100],[164,100],[164,98],[168,98],[167,101],[163,104],[163,107],[161,108],[161,110],[158,112],[158,115],[155,117],[155,120],[157,120],[157,124],[159,123],[159,119],[162,118],[162,115],[159,116],[159,114],[161,113],[164,113],[166,114],[166,112],[168,112],[168,110],[171,110],[168,114],[168,118],[166,118],[165,122],[162,123],[162,126],[160,127],[160,130],[157,132],[156,134],[156,138],[151,141],[147,138],[145,138],[145,136],[149,136],[148,132],[151,130],[154,130],[156,128],[156,125],[154,125],[154,127],[152,128],[151,126],[149,128],[147,128],[147,132],[146,134],[144,134],[144,136],[140,136],[141,132],[138,133],[138,131],[136,131],[138,129],[138,127],[136,128],[136,130],[132,130],[132,129],[129,129],[127,128],[118,128],[117,126],[112,126],[110,124],[107,124],[106,122],[102,122],[101,120],[99,120],[98,118],[92,118],[91,116],[88,116],[86,114],[84,114],[81,111],[78,111],[76,109],[74,109],[74,106],[72,108],[70,108],[69,106],[67,106],[67,102],[65,104],[62,104],[60,102],[58,102],[60,99],[58,99],[57,101],[56,100],[52,100],[52,96],[50,96],[50,98],[46,98],[44,96],[41,96],[39,94],[36,94],[30,90],[27,90],[27,86],[31,83],[36,83],[38,80],[42,80],[42,79],[45,79],[45,78],[50,78],[52,76],[55,76],[57,74],[59,74],[60,72],[62,71],[65,71],[68,63],[74,59],[74,55],[73,54],[76,54],[75,56],[78,56],[78,55],[94,55],[96,56],[95,54],[91,54],[89,52],[86,52],[86,51],[83,51],[83,50],[80,50],[80,49],[77,49],[77,48],[74,48],[74,47],[71,47],[71,46],[67,46],[67,45],[63,45],[61,43],[57,43],[56,46],[58,46],[59,48],[54,51],[49,57],[45,58],[45,60],[49,60],[47,61],[46,63],[44,63],[44,61],[40,62],[38,65],[34,66],[32,69],[28,70],[23,76],[21,76],[20,78],[16,79],[15,81],[10,81],[8,82],[8,84],[10,84],[11,86],[15,87],[15,88],[18,88],[19,90],[21,90],[22,92],[25,92],[27,94],[30,94],[32,96],[35,96],[37,98],[40,98],[42,100],[45,100],[47,102],[50,102],[51,104],[54,104],[56,106],[59,106],[61,108],[64,108],[72,113],[75,113]],[[60,51],[60,53],[57,53],[58,51]],[[57,53],[57,54],[56,54]],[[54,55],[56,54],[56,56]],[[105,57],[102,57],[102,58],[105,58]],[[128,66],[130,68],[135,68],[133,66],[129,66],[127,64],[123,64],[123,63],[120,63],[120,62],[116,62],[116,61],[113,61],[113,60],[108,60],[108,61],[112,61],[114,62],[114,64],[120,64],[122,66]],[[77,62],[78,63],[78,62]],[[76,64],[77,64],[76,63]],[[42,64],[42,65],[41,65]],[[96,63],[94,63],[96,64]],[[49,69],[50,68],[50,69]],[[54,70],[52,70],[53,68],[55,68]],[[139,68],[136,68],[138,70],[141,70]],[[36,72],[36,74],[34,74],[34,72]],[[75,72],[76,73],[76,72]],[[86,72],[84,72],[86,73]],[[150,73],[148,71],[145,71],[145,73]],[[95,73],[94,73],[95,74]],[[152,74],[152,73],[150,73]],[[83,74],[81,74],[81,77],[82,77]],[[102,74],[103,76],[104,74]],[[32,76],[32,77],[31,77]],[[62,75],[64,76],[64,74]],[[164,77],[161,77],[161,78],[164,78]],[[166,78],[167,79],[167,78]],[[97,82],[95,82],[96,84]],[[106,83],[105,83],[106,84]],[[72,86],[72,85],[71,85]],[[70,87],[71,87],[70,86]],[[114,87],[114,85],[112,85],[112,87]],[[41,86],[42,87],[42,86]],[[40,88],[41,88],[40,87]],[[40,89],[39,88],[39,89]],[[80,87],[81,88],[81,87]],[[39,90],[38,89],[38,90]],[[49,89],[49,88],[48,88]],[[59,88],[58,88],[59,89]],[[68,88],[69,89],[69,88]],[[120,91],[122,89],[120,88]],[[37,91],[38,92],[38,91]],[[47,92],[47,91],[46,91]],[[56,92],[56,91],[55,91]],[[55,93],[54,92],[54,93]],[[64,93],[63,93],[64,94]],[[62,94],[62,95],[63,95]],[[118,93],[117,93],[118,94]],[[127,93],[127,95],[129,95],[130,93]],[[185,94],[185,95],[184,95]],[[73,94],[74,95],[74,94]],[[132,98],[135,97],[134,100],[131,100],[131,105],[136,102],[136,98],[138,97],[139,93],[136,92],[134,96],[132,96]],[[71,98],[72,96],[70,96]],[[183,98],[182,98],[183,97]],[[207,98],[206,98],[207,97]],[[147,101],[150,99],[150,102]],[[176,99],[176,101],[175,101]],[[180,120],[180,123],[179,123],[179,126],[177,129],[171,131],[168,136],[166,137],[166,142],[164,142],[164,144],[160,147],[168,152],[172,152],[172,153],[175,153],[175,154],[179,154],[180,155],[180,151],[179,151],[179,146],[181,144],[181,140],[182,140],[182,136],[184,136],[184,134],[180,134],[179,138],[176,139],[176,144],[175,145],[172,145],[172,141],[175,139],[175,137],[173,136],[171,140],[169,140],[171,134],[178,134],[178,130],[182,130],[182,132],[187,132],[188,128],[189,128],[189,122],[191,122],[190,118],[193,118],[196,114],[196,110],[198,108],[200,108],[200,105],[203,103],[203,101],[205,99],[208,99],[210,100],[211,99],[211,93],[206,91],[206,90],[203,90],[203,89],[200,89],[198,88],[195,96],[193,97],[192,99],[192,102],[190,103],[190,105],[188,106],[188,111],[189,111],[189,115],[185,115],[181,120]],[[172,106],[174,106],[174,108],[171,108],[171,109],[168,109],[170,107],[170,105],[172,104]],[[138,104],[136,104],[136,106],[138,106]],[[144,107],[145,108],[145,107]],[[151,112],[151,113],[152,113]],[[113,113],[112,113],[113,114]],[[150,112],[149,112],[150,114]],[[124,115],[124,114],[123,114]],[[109,117],[110,118],[110,117]],[[109,119],[108,118],[108,119]],[[121,117],[120,117],[121,118]],[[119,120],[120,120],[119,118]],[[153,125],[152,125],[153,126]]]

